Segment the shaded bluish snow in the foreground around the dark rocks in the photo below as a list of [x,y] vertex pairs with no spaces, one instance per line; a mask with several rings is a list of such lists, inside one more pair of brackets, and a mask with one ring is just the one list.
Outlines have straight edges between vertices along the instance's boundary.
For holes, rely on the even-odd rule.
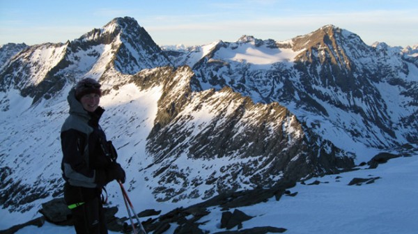
[[[418,155],[391,159],[377,169],[361,168],[339,175],[312,178],[291,189],[296,196],[271,198],[266,203],[238,208],[253,216],[242,228],[276,226],[286,228],[287,234],[382,234],[417,233],[418,230]],[[366,185],[348,185],[353,178],[376,178]],[[315,180],[319,185],[309,185]],[[144,199],[136,199],[137,210],[149,207]],[[167,208],[160,203],[153,208]],[[123,210],[123,207],[121,207]],[[125,210],[121,215],[127,215]],[[222,211],[213,208],[201,221],[208,221],[202,229],[215,233],[220,229]],[[166,233],[173,233],[172,226]],[[232,230],[236,230],[233,228]],[[30,226],[17,233],[73,233],[71,227],[45,224],[42,228]],[[110,232],[112,233],[112,232]]]

